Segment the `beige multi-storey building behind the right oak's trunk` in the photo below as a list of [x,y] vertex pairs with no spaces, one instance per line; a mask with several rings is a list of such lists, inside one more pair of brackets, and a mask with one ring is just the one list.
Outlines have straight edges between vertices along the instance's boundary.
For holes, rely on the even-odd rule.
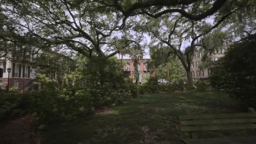
[[[223,57],[225,49],[215,51],[211,56],[211,61],[218,61]],[[211,75],[211,67],[206,69],[200,69],[199,65],[202,63],[203,51],[197,51],[194,53],[191,61],[191,74],[193,79],[207,79]]]

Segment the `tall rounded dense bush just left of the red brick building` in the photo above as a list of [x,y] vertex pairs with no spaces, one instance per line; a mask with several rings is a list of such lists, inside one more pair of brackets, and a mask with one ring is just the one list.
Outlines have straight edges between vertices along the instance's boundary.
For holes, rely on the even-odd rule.
[[115,57],[93,57],[91,59],[82,57],[84,64],[75,71],[75,85],[88,88],[98,104],[110,104],[115,101],[120,103],[129,97],[136,97],[136,87],[130,80],[125,82],[124,75],[120,69],[120,61]]

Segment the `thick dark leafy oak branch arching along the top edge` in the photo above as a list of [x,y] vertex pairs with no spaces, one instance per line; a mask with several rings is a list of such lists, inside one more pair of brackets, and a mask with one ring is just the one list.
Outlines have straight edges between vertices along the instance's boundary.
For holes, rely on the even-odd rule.
[[[227,0],[204,0],[204,2],[202,0],[101,0],[101,3],[117,8],[126,17],[147,14],[156,19],[166,13],[180,13],[187,19],[195,21],[213,15],[226,2]],[[208,8],[200,10],[200,13],[189,11],[191,4],[195,4],[193,6],[195,10],[200,8],[200,3],[205,3]]]

